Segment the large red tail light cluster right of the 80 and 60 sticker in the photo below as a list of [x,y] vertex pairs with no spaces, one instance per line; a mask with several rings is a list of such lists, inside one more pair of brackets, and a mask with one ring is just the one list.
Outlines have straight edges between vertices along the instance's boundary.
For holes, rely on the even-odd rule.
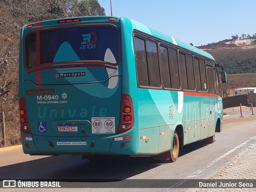
[[132,98],[128,95],[121,95],[120,119],[116,134],[130,130],[134,126],[134,110]]

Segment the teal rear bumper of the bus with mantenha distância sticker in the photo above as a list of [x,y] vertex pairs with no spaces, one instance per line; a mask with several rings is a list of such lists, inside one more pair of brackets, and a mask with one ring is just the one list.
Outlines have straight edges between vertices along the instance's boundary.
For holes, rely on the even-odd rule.
[[[134,155],[138,150],[136,130],[124,134],[88,137],[38,136],[21,132],[25,154],[122,154]],[[124,145],[122,145],[124,144]]]

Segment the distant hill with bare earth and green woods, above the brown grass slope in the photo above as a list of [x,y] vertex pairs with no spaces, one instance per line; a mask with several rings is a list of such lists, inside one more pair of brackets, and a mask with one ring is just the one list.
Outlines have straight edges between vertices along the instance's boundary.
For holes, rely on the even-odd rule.
[[217,63],[223,64],[227,74],[256,73],[256,33],[232,38],[197,48],[210,53]]

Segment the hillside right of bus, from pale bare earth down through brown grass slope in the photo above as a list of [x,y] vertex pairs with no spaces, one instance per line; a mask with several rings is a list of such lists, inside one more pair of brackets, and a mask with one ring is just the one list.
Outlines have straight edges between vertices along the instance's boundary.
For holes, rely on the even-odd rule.
[[202,48],[224,65],[228,79],[222,84],[224,96],[233,96],[235,88],[256,87],[256,45],[251,45],[254,40],[226,41],[215,48]]

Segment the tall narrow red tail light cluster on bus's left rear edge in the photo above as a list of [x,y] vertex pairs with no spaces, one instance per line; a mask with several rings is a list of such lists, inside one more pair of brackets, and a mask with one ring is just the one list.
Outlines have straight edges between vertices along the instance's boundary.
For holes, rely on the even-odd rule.
[[32,131],[28,123],[28,113],[27,113],[25,97],[20,98],[19,105],[20,105],[20,128],[22,131],[32,134]]

